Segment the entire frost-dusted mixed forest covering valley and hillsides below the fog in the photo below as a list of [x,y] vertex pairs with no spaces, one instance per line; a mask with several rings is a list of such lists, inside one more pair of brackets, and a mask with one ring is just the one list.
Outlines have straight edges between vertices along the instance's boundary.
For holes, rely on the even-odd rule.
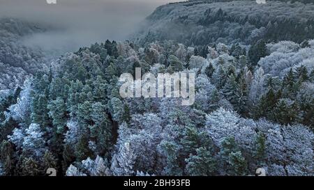
[[[311,2],[170,3],[54,59],[19,41],[42,29],[0,23],[0,175],[314,175]],[[195,73],[195,103],[122,98],[135,68]]]

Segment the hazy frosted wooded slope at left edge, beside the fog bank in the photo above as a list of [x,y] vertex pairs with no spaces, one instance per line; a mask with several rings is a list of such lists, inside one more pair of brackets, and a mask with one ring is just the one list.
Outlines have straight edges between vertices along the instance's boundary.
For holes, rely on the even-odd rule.
[[23,81],[47,64],[38,48],[26,47],[22,38],[43,32],[36,24],[20,19],[0,18],[0,90],[22,85]]

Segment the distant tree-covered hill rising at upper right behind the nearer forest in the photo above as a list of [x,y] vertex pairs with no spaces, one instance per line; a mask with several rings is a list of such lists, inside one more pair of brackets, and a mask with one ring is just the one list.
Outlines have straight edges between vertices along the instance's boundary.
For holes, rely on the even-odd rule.
[[[176,40],[186,45],[241,42],[246,45],[314,38],[314,4],[305,0],[186,1],[158,7],[137,33],[141,44],[154,40]],[[307,3],[307,4],[305,4]]]

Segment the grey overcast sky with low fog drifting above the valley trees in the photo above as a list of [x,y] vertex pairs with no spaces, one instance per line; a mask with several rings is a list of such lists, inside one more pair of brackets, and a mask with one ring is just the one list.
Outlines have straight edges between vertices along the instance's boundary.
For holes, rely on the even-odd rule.
[[160,5],[181,0],[0,0],[0,17],[47,24],[54,31],[27,37],[27,45],[68,51],[105,39],[126,40]]

